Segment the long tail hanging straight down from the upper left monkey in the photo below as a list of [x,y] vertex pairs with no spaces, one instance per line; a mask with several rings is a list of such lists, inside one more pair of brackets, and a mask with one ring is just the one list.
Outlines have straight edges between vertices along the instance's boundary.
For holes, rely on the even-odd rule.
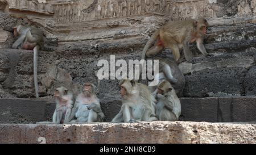
[[36,98],[39,98],[38,94],[38,51],[39,51],[39,45],[36,45],[33,49],[34,51],[34,83],[35,83],[35,93]]

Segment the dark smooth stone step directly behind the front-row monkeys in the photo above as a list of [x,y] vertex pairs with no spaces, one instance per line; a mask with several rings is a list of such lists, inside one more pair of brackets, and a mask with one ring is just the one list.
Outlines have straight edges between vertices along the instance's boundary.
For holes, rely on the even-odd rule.
[[[182,121],[254,122],[256,97],[181,98]],[[121,107],[119,99],[101,99],[101,107],[110,122]],[[0,99],[0,123],[36,123],[51,121],[55,103],[48,100]]]

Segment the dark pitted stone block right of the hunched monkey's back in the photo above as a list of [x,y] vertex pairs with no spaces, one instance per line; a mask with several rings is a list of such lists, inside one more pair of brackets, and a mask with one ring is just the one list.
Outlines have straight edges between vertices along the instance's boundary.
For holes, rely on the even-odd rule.
[[185,97],[209,97],[209,93],[243,94],[243,68],[205,69],[185,76]]

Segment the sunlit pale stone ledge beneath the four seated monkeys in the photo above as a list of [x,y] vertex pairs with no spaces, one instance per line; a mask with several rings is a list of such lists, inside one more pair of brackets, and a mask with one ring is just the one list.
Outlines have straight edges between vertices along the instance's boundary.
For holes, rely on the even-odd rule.
[[[0,143],[256,143],[255,124],[0,124]],[[110,138],[111,137],[111,138]]]

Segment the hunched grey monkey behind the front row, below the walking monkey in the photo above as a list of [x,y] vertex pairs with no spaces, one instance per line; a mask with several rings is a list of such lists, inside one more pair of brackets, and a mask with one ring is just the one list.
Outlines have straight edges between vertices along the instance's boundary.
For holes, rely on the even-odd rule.
[[[159,73],[155,74],[155,78],[158,78],[159,83],[163,80],[169,81],[174,87],[177,96],[183,97],[185,77],[174,60],[159,58]],[[149,86],[149,88],[151,93],[153,93],[157,86]]]

